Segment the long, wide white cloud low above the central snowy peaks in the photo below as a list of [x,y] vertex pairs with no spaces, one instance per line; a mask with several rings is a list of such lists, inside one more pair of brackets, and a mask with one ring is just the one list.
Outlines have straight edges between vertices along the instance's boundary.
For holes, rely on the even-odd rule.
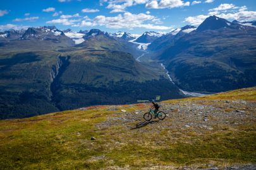
[[[151,23],[149,23],[151,22]],[[147,29],[155,29],[155,30],[169,30],[172,27],[170,26],[161,26],[161,25],[153,25],[152,23],[161,23],[159,18],[149,14],[132,14],[132,13],[124,13],[118,14],[117,16],[96,16],[93,20],[90,18],[86,18],[83,20],[80,25],[73,26],[106,26],[107,28],[147,28]]]

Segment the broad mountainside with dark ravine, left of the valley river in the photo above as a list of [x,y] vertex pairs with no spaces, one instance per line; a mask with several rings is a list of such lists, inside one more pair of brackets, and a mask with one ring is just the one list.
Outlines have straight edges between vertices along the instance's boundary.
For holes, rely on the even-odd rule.
[[137,62],[128,42],[96,29],[84,38],[75,45],[44,26],[0,45],[0,119],[184,97],[164,73]]

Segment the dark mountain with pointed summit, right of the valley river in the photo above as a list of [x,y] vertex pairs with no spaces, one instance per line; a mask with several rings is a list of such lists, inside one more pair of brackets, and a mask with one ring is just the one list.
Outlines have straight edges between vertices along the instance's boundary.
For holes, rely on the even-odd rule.
[[158,59],[185,91],[216,93],[256,84],[256,29],[210,16]]

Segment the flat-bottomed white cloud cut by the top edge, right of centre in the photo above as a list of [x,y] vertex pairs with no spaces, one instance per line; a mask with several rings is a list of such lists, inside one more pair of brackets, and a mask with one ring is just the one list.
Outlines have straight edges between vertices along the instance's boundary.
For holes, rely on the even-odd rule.
[[182,6],[190,6],[190,2],[182,0],[152,0],[146,4],[146,8],[163,9],[163,8],[178,8]]

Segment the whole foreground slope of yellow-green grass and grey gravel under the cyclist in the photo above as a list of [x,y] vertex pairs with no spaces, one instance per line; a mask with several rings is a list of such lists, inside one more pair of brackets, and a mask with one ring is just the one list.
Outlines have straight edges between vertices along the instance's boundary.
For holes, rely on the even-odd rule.
[[0,169],[253,169],[255,101],[247,88],[163,101],[163,121],[143,121],[149,103],[1,120]]

